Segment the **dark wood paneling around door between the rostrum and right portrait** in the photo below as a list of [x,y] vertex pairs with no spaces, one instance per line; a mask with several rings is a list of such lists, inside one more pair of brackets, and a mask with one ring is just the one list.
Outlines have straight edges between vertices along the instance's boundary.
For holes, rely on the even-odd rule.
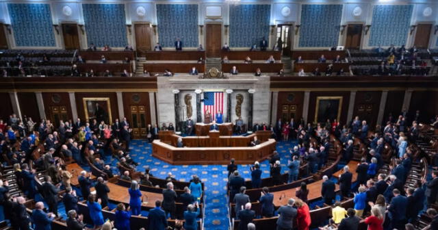
[[304,100],[304,92],[279,92],[279,98],[277,100],[277,112],[276,120],[283,118],[283,106],[296,106],[295,110],[295,122],[302,118],[302,106]]

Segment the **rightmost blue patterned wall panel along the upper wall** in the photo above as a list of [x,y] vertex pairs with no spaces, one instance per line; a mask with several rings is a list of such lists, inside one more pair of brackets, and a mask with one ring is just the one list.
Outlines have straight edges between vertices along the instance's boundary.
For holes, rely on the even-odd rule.
[[413,5],[374,5],[370,47],[406,44]]

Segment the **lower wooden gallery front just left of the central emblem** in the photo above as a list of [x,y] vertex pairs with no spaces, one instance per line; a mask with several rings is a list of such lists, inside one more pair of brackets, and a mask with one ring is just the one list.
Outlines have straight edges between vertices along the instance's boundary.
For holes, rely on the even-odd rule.
[[143,69],[149,71],[149,73],[164,73],[164,70],[168,69],[172,73],[189,73],[192,71],[192,67],[198,70],[199,74],[205,72],[205,64],[202,63],[154,63],[143,64]]

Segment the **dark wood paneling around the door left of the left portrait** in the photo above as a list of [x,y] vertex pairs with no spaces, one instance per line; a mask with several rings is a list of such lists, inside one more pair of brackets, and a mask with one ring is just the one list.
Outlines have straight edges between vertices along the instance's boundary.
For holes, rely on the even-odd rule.
[[67,110],[67,118],[73,119],[70,97],[68,97],[67,92],[43,92],[42,101],[44,101],[44,112],[46,113],[47,119],[55,120],[55,114],[53,113],[54,107],[65,107]]

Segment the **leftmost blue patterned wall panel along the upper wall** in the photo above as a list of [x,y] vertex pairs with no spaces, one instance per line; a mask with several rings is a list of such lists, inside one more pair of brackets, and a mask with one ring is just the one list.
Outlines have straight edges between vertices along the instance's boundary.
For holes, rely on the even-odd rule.
[[17,47],[55,47],[49,4],[8,4]]

